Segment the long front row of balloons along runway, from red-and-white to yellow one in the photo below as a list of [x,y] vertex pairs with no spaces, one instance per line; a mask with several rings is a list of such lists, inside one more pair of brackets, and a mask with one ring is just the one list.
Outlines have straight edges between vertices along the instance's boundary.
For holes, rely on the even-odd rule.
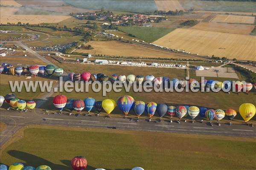
[[[81,112],[83,109],[90,113],[92,108],[96,108],[98,114],[102,109],[109,115],[114,108],[117,106],[125,116],[133,109],[134,113],[139,118],[145,111],[151,119],[154,116],[154,113],[157,113],[160,116],[160,119],[166,113],[171,116],[171,121],[173,116],[177,116],[179,120],[183,117],[189,115],[192,121],[200,115],[202,118],[207,118],[209,121],[212,119],[217,119],[220,121],[227,116],[230,121],[236,116],[236,111],[233,109],[227,109],[226,111],[221,109],[209,109],[207,108],[198,108],[197,106],[167,106],[166,104],[155,102],[143,102],[143,101],[134,101],[132,96],[120,96],[116,101],[113,99],[104,99],[103,101],[96,101],[95,99],[88,97],[84,100],[81,99],[67,99],[64,95],[57,95],[53,98],[53,105],[58,108],[59,111],[62,111],[64,107],[70,109],[70,111],[76,110]],[[239,113],[245,122],[249,121],[255,115],[256,109],[253,104],[244,103],[239,107]]]

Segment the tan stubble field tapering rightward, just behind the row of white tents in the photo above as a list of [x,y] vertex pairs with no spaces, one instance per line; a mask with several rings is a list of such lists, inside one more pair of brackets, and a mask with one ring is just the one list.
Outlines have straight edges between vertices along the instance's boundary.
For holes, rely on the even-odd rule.
[[89,53],[89,54],[103,54],[111,56],[126,56],[126,57],[160,57],[160,58],[193,58],[182,54],[170,53],[168,51],[161,51],[145,47],[144,45],[130,44],[119,41],[90,41],[85,45],[91,45],[94,49],[78,49],[75,52]]

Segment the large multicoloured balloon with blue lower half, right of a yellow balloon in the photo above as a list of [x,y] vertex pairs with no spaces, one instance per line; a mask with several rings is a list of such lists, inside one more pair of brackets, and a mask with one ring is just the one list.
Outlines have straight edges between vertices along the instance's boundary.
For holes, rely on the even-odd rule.
[[128,115],[129,111],[134,104],[134,98],[132,96],[120,96],[116,100],[118,108],[125,114],[125,117]]

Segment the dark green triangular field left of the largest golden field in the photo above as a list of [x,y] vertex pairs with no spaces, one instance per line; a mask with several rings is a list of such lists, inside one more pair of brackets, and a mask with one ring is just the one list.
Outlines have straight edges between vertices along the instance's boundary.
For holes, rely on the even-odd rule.
[[175,28],[130,27],[130,26],[119,26],[118,29],[119,31],[123,31],[127,34],[131,34],[147,42],[154,42],[155,40],[175,30]]

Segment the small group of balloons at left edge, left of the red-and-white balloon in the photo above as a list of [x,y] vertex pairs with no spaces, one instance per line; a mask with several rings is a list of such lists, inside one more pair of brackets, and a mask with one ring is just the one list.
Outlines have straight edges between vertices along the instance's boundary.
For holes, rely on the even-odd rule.
[[4,101],[9,103],[11,108],[13,108],[15,110],[19,109],[20,111],[23,111],[26,107],[29,108],[30,110],[33,110],[36,106],[35,101],[31,100],[31,101],[26,102],[25,100],[20,100],[20,99],[16,98],[16,95],[13,93],[6,94],[5,97],[0,96],[0,107],[2,107]]

